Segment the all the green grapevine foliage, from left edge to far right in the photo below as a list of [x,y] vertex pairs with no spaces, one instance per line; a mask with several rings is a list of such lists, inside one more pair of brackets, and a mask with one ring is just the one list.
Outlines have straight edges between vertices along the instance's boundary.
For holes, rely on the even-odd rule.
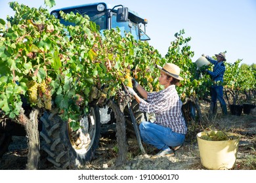
[[[53,0],[45,0],[51,7]],[[0,108],[15,118],[22,106],[21,96],[29,99],[28,84],[45,82],[64,120],[76,122],[89,103],[102,106],[108,99],[116,99],[123,90],[123,78],[131,75],[148,91],[159,91],[159,70],[156,65],[175,63],[181,67],[181,86],[177,91],[182,101],[193,96],[202,98],[209,92],[211,80],[192,62],[190,37],[184,30],[175,33],[175,41],[164,58],[148,42],[136,41],[130,33],[121,37],[119,29],[105,30],[88,16],[64,14],[60,16],[74,26],[60,24],[45,8],[30,8],[10,3],[16,12],[8,22],[0,19]],[[255,70],[226,64],[225,85],[236,90],[255,88]],[[250,67],[252,68],[252,67]],[[246,78],[244,77],[246,76]],[[47,90],[48,90],[47,89]],[[42,93],[37,93],[38,99]],[[33,103],[39,107],[39,103]],[[44,108],[44,110],[46,110]]]

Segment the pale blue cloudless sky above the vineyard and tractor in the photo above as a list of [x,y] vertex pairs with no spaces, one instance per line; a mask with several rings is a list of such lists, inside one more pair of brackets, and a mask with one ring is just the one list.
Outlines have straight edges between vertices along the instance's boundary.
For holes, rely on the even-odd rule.
[[[0,0],[0,18],[14,12],[8,3]],[[43,6],[43,0],[18,0],[29,7]],[[86,3],[94,0],[65,1],[56,0],[61,8]],[[214,56],[226,51],[226,61],[234,63],[256,63],[256,1],[255,0],[106,0],[110,5],[124,5],[148,19],[146,33],[150,36],[149,44],[165,56],[174,34],[185,30],[184,37],[192,37],[191,50],[195,52],[192,61],[202,54]]]

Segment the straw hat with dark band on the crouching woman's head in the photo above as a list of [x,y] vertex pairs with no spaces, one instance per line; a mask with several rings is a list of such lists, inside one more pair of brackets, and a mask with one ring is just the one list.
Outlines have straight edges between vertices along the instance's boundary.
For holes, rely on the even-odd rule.
[[161,67],[160,65],[157,65],[158,69],[163,71],[168,76],[171,76],[173,78],[176,78],[177,80],[184,80],[180,75],[181,69],[177,65],[173,63],[166,63]]

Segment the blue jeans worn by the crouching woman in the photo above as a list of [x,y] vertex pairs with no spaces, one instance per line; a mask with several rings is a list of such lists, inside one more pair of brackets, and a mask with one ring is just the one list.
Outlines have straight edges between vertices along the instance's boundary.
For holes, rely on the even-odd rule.
[[161,150],[166,150],[169,146],[179,146],[185,140],[184,134],[175,133],[169,127],[151,122],[142,122],[139,128],[142,141]]

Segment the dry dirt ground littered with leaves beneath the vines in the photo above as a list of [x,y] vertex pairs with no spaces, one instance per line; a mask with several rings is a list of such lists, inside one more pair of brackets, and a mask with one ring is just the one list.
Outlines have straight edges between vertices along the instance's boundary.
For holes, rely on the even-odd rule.
[[[218,113],[213,120],[207,120],[207,103],[202,103],[202,113],[207,127],[224,130],[240,135],[238,154],[234,170],[256,169],[256,108],[250,114],[234,116],[228,112],[227,116]],[[188,134],[183,146],[175,152],[174,157],[153,158],[158,152],[150,145],[143,144],[147,154],[141,154],[135,135],[127,136],[128,155],[123,165],[115,165],[117,157],[117,143],[115,132],[103,134],[96,150],[95,158],[85,163],[81,169],[123,169],[123,170],[203,170],[196,134],[203,131],[202,125],[196,122],[188,123]],[[26,169],[26,155],[28,148],[26,137],[13,137],[12,143],[0,161],[0,169]],[[54,169],[51,163],[42,162],[41,169]]]

